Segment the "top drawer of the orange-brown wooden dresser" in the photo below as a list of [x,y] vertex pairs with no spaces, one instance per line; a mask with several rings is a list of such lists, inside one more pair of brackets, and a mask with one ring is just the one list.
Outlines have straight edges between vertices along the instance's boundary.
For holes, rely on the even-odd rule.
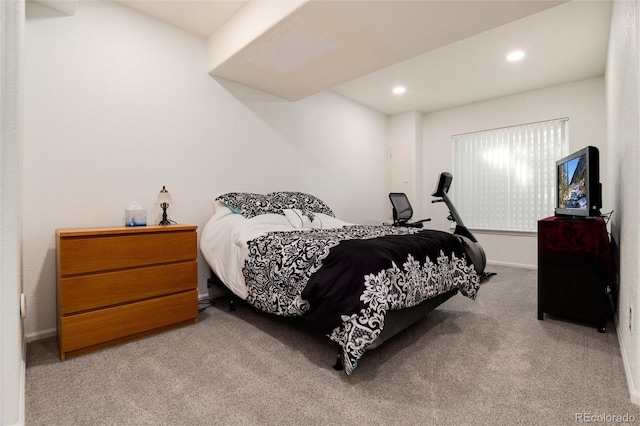
[[59,274],[86,274],[192,260],[197,256],[195,232],[159,232],[60,238]]

